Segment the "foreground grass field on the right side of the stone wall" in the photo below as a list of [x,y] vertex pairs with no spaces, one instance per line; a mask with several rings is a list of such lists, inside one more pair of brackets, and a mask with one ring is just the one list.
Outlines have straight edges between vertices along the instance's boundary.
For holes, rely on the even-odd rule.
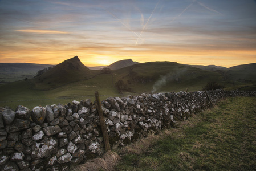
[[121,156],[116,170],[254,170],[255,106],[256,97],[221,101],[150,141],[143,153]]

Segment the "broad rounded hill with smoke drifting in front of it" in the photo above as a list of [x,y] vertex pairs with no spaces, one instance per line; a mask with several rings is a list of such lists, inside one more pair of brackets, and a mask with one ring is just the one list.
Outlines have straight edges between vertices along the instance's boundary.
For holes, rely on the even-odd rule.
[[[221,74],[174,62],[148,62],[113,71],[115,82],[124,90],[136,92],[190,91],[202,89],[207,82],[222,82]],[[128,88],[127,88],[128,87]]]

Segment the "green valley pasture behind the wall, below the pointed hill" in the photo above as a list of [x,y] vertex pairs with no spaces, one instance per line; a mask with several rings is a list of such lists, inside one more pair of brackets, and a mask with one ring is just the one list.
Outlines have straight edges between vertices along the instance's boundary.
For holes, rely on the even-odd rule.
[[82,99],[91,99],[94,101],[95,91],[99,91],[101,100],[104,100],[113,94],[117,94],[117,90],[112,84],[112,76],[109,74],[101,74],[89,80],[70,83],[48,91],[31,89],[29,82],[22,80],[19,82],[0,85],[0,107],[9,105],[15,109],[19,104],[21,104],[32,109],[36,105],[45,106],[47,104],[67,104],[72,102],[72,100],[79,101]]

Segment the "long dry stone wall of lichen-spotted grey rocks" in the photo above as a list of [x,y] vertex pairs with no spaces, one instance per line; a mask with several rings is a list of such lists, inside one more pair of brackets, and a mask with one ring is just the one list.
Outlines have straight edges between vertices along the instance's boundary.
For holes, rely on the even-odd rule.
[[[222,98],[256,92],[171,92],[109,97],[101,101],[112,148],[119,148],[175,126]],[[96,102],[19,105],[0,110],[0,170],[68,170],[70,165],[104,153]]]

